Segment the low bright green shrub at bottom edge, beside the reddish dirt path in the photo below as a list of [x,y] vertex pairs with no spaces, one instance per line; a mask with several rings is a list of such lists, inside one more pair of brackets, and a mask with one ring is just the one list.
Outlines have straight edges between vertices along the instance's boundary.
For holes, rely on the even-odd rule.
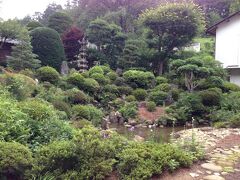
[[192,163],[186,152],[167,144],[133,143],[119,153],[118,158],[118,170],[123,179],[149,179],[161,174],[163,169],[187,167]]

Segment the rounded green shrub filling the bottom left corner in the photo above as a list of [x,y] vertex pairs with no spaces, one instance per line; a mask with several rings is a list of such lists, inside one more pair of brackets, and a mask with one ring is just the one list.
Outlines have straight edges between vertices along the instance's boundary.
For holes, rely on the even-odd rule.
[[24,179],[33,165],[31,151],[15,142],[0,142],[0,178]]

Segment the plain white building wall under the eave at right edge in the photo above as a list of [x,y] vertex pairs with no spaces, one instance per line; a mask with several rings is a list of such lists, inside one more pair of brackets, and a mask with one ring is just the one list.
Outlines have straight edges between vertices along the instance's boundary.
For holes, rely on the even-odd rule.
[[240,67],[240,15],[220,24],[216,31],[216,60]]

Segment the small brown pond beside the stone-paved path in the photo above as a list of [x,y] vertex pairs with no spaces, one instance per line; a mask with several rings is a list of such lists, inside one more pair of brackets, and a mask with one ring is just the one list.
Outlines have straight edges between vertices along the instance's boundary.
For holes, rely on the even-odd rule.
[[[128,139],[133,139],[135,135],[143,137],[146,141],[154,141],[157,143],[167,143],[170,141],[171,133],[173,128],[163,127],[163,128],[128,128],[119,124],[111,124],[110,128],[116,129],[116,131]],[[184,127],[175,127],[174,132],[184,130]]]

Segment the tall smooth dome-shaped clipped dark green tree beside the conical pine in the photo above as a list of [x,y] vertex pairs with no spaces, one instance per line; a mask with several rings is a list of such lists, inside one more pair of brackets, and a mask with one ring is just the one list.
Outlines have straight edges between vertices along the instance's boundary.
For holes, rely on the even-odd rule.
[[30,32],[33,53],[38,55],[43,66],[51,66],[60,71],[65,60],[61,38],[57,31],[39,27]]

